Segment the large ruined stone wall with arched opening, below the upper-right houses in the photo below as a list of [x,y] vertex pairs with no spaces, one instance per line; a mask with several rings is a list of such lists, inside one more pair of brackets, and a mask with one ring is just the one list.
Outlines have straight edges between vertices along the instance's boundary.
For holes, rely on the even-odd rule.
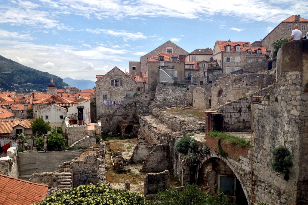
[[219,78],[212,87],[212,109],[216,110],[226,102],[257,91],[257,76],[259,76],[259,89],[274,83],[276,78],[275,74],[267,73],[226,74]]

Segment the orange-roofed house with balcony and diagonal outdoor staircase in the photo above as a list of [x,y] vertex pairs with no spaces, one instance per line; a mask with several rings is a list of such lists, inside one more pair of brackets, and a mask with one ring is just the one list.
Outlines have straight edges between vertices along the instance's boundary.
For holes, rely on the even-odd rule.
[[183,81],[184,68],[184,59],[171,53],[159,53],[149,58],[146,63],[148,90],[155,91],[159,82]]

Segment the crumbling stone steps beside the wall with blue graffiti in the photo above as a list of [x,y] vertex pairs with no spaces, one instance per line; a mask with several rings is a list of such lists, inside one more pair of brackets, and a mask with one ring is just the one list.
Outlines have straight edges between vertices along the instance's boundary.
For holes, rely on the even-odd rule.
[[58,187],[57,191],[67,191],[73,187],[73,170],[71,168],[71,162],[67,161],[60,165],[58,171]]

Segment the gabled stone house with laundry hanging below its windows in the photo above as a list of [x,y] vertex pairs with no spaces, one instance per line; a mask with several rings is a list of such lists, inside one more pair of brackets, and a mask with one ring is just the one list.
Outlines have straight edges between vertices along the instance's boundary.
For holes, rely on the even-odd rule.
[[[120,106],[121,101],[137,93],[137,82],[117,67],[95,82],[97,116],[108,113],[108,107]],[[116,105],[116,106],[115,106]]]

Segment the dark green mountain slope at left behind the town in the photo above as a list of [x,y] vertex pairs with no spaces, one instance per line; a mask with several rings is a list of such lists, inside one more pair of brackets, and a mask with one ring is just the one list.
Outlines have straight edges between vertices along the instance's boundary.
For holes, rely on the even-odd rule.
[[62,88],[63,85],[67,85],[58,76],[29,68],[0,56],[0,89],[2,91],[29,92],[30,89],[47,91],[51,77],[57,88]]

